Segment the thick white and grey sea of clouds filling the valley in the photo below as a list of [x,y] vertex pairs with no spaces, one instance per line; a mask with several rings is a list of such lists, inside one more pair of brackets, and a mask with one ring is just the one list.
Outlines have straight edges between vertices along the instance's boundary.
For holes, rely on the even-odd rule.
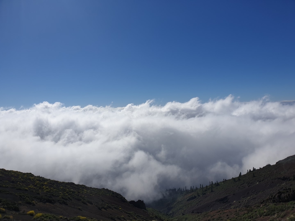
[[295,105],[202,103],[0,108],[0,168],[108,188],[128,200],[244,174],[295,154]]

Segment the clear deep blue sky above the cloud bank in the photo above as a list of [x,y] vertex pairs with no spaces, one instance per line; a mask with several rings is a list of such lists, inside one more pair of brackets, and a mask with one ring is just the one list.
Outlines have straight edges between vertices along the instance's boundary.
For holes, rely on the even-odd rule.
[[295,1],[0,1],[0,107],[295,99]]

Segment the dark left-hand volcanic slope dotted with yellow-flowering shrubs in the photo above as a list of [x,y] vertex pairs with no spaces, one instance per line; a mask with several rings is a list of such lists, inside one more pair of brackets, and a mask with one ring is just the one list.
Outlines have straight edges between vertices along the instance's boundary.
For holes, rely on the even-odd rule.
[[[131,205],[122,195],[68,182],[0,169],[0,208],[15,220],[32,220],[27,212],[43,213],[38,220],[153,220],[160,217]],[[1,209],[0,209],[1,212]],[[3,209],[2,209],[3,212]],[[51,214],[46,215],[44,214]],[[81,217],[78,217],[81,216]],[[60,218],[59,218],[60,217]],[[37,217],[35,217],[36,219]],[[46,219],[45,219],[46,218]]]

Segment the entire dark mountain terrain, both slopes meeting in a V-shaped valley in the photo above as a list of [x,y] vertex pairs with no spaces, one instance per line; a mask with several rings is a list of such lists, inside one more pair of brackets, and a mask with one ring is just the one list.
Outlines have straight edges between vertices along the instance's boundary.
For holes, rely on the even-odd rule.
[[[24,221],[294,221],[295,155],[253,169],[203,188],[167,190],[147,210],[143,202],[128,202],[109,189],[0,169],[0,214],[2,220]],[[27,214],[32,210],[35,214]]]

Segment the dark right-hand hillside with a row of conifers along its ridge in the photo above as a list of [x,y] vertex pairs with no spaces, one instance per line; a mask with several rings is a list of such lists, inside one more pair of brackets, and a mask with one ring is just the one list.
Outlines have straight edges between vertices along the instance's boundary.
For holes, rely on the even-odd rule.
[[163,196],[147,206],[174,220],[286,220],[295,211],[295,155],[207,187],[170,189]]

